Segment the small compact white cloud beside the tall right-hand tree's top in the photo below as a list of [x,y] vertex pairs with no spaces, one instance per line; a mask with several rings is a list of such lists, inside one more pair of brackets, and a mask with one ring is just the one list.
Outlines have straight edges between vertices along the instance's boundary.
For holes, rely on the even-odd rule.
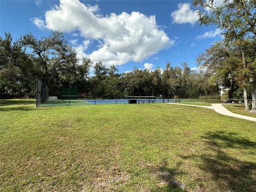
[[178,10],[172,12],[171,17],[173,23],[191,23],[192,25],[199,19],[197,10],[193,11],[190,9],[190,3],[179,3]]

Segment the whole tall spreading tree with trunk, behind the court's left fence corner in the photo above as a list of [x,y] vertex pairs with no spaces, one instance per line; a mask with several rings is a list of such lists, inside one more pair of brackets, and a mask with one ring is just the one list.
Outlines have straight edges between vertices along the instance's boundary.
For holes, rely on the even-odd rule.
[[[32,34],[20,37],[19,46],[30,51],[31,56],[42,76],[41,100],[47,100],[48,92],[55,92],[60,85],[54,78],[61,77],[64,82],[74,79],[76,75],[77,57],[75,50],[68,44],[61,31],[52,31],[48,37],[37,39]],[[49,86],[49,85],[52,86]],[[67,85],[68,86],[68,85]]]

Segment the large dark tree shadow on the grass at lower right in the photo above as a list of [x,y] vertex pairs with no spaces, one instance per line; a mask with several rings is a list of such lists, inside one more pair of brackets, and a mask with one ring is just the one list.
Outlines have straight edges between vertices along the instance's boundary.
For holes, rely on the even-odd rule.
[[256,142],[241,138],[237,133],[224,131],[207,132],[203,139],[210,147],[210,153],[182,158],[195,158],[202,162],[199,168],[210,175],[211,181],[218,185],[220,191],[256,191],[256,163],[242,161],[226,152],[237,149],[236,156],[245,153],[253,156]]

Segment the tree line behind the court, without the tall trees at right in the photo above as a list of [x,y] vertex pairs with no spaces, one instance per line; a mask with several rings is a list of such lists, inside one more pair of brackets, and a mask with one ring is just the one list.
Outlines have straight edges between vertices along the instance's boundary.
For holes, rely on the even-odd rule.
[[26,34],[16,41],[10,33],[5,33],[0,43],[2,98],[35,97],[36,77],[44,77],[49,86],[54,84],[50,92],[58,91],[60,86],[67,87],[71,82],[81,98],[123,98],[124,95],[197,98],[213,93],[218,97],[218,85],[208,84],[207,78],[191,70],[187,63],[173,67],[167,62],[164,69],[134,68],[118,73],[115,66],[106,67],[101,61],[79,60],[58,30],[41,39]]

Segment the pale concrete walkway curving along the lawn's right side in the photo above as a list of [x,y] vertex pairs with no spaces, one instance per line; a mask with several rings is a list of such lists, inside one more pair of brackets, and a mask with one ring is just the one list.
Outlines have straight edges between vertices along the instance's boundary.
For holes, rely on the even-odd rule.
[[167,103],[167,104],[191,106],[191,107],[204,107],[207,109],[214,109],[217,113],[219,113],[221,115],[227,115],[230,117],[237,117],[237,118],[242,118],[242,119],[256,122],[255,117],[249,117],[249,116],[245,116],[245,115],[239,115],[239,114],[232,113],[231,111],[229,111],[228,109],[223,107],[220,103],[213,103],[212,106],[198,106],[198,105],[188,105],[188,104],[182,104],[182,103]]

